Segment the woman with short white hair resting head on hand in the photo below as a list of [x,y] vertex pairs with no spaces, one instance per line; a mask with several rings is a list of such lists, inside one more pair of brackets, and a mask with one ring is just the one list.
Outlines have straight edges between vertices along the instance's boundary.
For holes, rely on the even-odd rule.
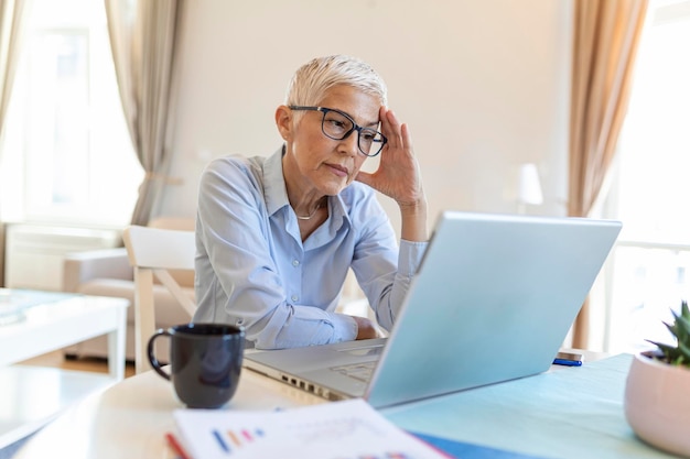
[[[196,220],[195,321],[245,327],[260,349],[377,336],[334,313],[348,269],[389,329],[427,248],[427,201],[410,133],[364,62],[316,58],[276,110],[284,144],[204,171]],[[379,132],[380,131],[380,132]],[[380,153],[375,173],[360,172]],[[398,248],[378,190],[401,214]]]

